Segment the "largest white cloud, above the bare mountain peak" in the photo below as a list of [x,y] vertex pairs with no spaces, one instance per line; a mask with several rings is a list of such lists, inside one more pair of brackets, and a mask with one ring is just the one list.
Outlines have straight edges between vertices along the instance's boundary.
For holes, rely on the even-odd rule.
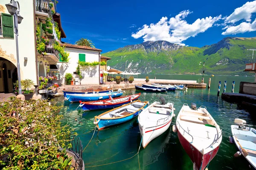
[[189,10],[181,11],[175,17],[171,17],[169,21],[167,17],[162,17],[156,24],[143,25],[139,31],[131,36],[135,39],[142,37],[144,42],[166,40],[179,45],[185,45],[182,41],[206,31],[216,21],[221,19],[221,15],[219,15],[217,17],[197,19],[194,23],[188,24],[184,18],[191,13],[192,11]]

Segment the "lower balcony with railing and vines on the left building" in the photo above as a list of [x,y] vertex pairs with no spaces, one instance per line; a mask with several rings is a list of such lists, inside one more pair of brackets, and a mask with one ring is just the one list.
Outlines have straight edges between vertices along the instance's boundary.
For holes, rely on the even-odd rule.
[[[49,42],[45,44],[44,57],[49,62],[49,64],[55,64],[59,61],[58,51],[53,48],[53,44],[56,40],[49,39]],[[38,54],[38,56],[43,56],[43,54]]]

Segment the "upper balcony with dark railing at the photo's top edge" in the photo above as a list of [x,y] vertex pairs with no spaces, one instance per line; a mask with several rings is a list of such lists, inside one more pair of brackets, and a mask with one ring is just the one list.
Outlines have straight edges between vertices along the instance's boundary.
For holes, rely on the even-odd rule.
[[[49,3],[53,4],[52,8],[49,8]],[[55,0],[35,0],[35,15],[40,18],[47,18],[52,16],[52,10],[56,10]]]

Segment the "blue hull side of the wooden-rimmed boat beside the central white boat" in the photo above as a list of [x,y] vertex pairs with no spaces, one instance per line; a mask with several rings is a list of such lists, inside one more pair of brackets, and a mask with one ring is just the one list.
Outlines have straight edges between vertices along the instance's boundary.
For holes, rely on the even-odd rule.
[[[143,108],[147,108],[148,104],[146,104]],[[125,117],[120,117],[118,119],[100,119],[99,118],[95,118],[95,122],[98,122],[97,127],[98,130],[103,130],[105,127],[109,127],[109,126],[113,126],[113,125],[118,125],[124,122],[127,122],[131,119],[133,119],[134,117],[138,116],[138,114],[141,112],[141,110],[136,111],[134,114],[130,115],[130,116],[125,116]]]

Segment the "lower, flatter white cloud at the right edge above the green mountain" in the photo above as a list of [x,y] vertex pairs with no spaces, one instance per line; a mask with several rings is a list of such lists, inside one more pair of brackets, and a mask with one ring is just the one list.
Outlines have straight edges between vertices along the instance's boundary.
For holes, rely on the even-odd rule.
[[244,32],[251,32],[251,31],[256,31],[256,19],[253,21],[253,23],[243,22],[238,26],[230,26],[227,28],[226,31],[222,32],[221,34],[229,35],[229,34],[239,34]]

